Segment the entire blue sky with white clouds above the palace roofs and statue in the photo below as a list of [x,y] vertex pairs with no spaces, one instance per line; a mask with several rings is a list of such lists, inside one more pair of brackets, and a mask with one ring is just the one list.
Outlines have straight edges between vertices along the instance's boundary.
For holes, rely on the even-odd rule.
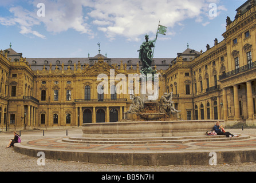
[[206,51],[222,41],[226,17],[245,0],[0,0],[0,49],[26,58],[137,58],[139,47],[159,34],[155,58],[187,49]]

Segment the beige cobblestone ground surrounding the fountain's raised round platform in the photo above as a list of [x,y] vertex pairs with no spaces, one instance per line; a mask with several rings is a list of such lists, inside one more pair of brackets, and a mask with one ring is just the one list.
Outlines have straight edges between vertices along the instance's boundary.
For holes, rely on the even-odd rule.
[[[227,129],[231,133],[241,133],[255,136],[256,129]],[[19,133],[19,132],[18,132]],[[82,135],[81,129],[68,129],[68,136]],[[42,130],[22,131],[22,141],[30,141],[42,138],[65,138],[66,130]],[[9,139],[13,138],[13,132],[0,133],[0,171],[15,172],[17,166],[22,172],[255,172],[256,162],[245,164],[221,164],[211,165],[170,165],[170,166],[135,166],[135,165],[108,165],[90,164],[73,161],[45,161],[45,166],[37,165],[38,158],[30,157],[14,152],[13,148],[6,149]]]

